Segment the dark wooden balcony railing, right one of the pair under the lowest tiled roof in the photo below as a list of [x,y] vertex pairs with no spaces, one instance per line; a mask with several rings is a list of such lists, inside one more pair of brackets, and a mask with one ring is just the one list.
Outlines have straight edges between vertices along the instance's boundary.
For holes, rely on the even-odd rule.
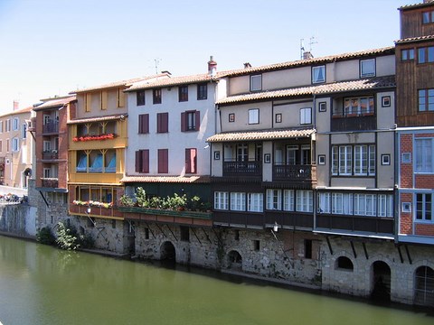
[[316,165],[274,165],[273,181],[290,181],[294,185],[316,183]]

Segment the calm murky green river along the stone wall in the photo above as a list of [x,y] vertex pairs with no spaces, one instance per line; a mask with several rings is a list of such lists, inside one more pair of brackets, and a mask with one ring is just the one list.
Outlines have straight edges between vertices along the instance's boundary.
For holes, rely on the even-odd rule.
[[0,322],[26,324],[434,323],[434,312],[131,262],[0,236]]

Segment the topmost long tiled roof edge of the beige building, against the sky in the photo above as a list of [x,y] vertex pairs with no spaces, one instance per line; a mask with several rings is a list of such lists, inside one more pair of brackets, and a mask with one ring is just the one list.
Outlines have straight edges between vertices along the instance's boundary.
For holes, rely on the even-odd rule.
[[319,63],[334,62],[339,60],[349,60],[349,59],[361,58],[361,57],[372,56],[372,55],[392,55],[394,53],[395,53],[395,48],[393,46],[390,46],[390,47],[384,47],[380,49],[354,51],[354,52],[330,55],[330,56],[325,56],[320,58],[269,64],[260,67],[245,68],[241,70],[223,71],[220,73],[219,76],[234,77],[234,76],[241,76],[241,75],[251,74],[251,73],[259,73],[268,70],[282,70],[282,69],[294,68],[299,66],[308,66],[308,65],[319,64]]

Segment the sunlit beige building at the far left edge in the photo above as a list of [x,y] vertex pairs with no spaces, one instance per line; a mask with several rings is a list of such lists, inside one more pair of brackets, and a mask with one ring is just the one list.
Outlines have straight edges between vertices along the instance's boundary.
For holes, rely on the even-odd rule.
[[33,139],[27,133],[33,107],[0,116],[0,184],[27,188],[32,172]]

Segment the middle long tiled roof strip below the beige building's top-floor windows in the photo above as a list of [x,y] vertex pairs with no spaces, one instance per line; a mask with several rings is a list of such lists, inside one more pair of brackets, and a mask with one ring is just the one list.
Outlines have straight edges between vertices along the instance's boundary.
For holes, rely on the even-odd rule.
[[340,81],[327,83],[317,86],[307,86],[298,88],[287,88],[272,91],[255,92],[244,95],[231,96],[222,98],[216,104],[232,104],[255,100],[265,100],[271,98],[288,98],[299,96],[313,96],[319,94],[331,94],[346,91],[354,91],[361,89],[374,89],[374,88],[392,88],[396,87],[395,77],[373,77],[367,79],[355,79],[350,81]]

